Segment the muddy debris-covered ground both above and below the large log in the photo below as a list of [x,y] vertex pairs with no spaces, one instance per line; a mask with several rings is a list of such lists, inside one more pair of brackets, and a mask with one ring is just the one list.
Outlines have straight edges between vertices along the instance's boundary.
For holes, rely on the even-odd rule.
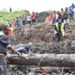
[[[52,26],[47,24],[39,24],[37,26],[26,25],[15,31],[15,37],[15,46],[25,46],[29,45],[28,43],[32,43],[31,49],[33,53],[75,53],[75,25],[70,25],[70,29],[66,29],[65,37],[59,43],[55,41]],[[30,69],[33,67],[36,68],[34,65],[29,67],[25,65],[9,65],[9,75],[75,75],[75,70],[64,71],[62,68],[60,73],[59,71],[57,73],[36,73]]]

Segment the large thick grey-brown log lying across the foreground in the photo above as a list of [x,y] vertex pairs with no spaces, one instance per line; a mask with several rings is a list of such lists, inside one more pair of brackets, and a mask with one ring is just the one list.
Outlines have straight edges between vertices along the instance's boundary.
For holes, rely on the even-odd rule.
[[8,55],[8,64],[75,67],[75,54],[23,54]]

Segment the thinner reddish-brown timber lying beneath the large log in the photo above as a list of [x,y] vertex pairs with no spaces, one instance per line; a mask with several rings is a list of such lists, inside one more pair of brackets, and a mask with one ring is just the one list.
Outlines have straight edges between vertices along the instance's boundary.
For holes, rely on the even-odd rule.
[[37,67],[37,68],[30,68],[31,71],[38,72],[38,73],[52,73],[52,72],[61,72],[62,69],[64,71],[71,71],[75,70],[75,67]]

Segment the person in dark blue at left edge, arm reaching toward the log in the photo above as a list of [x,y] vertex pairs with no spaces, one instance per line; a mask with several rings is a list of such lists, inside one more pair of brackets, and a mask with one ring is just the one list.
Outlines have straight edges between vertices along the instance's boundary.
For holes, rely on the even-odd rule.
[[11,51],[15,52],[18,55],[21,55],[17,52],[14,48],[12,48],[10,44],[10,39],[7,36],[8,29],[6,26],[3,27],[3,33],[0,35],[0,65],[2,66],[2,75],[8,75],[7,63],[6,63],[6,55],[7,50],[10,49]]

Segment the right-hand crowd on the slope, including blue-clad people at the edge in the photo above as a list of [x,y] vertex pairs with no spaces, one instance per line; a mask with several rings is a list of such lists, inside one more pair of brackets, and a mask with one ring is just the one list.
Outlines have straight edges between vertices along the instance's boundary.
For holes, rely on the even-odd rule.
[[48,16],[48,24],[53,25],[55,36],[58,42],[61,41],[61,36],[65,36],[66,28],[70,29],[69,19],[73,19],[75,21],[74,4],[66,7],[65,10],[62,8],[61,11],[54,11]]

